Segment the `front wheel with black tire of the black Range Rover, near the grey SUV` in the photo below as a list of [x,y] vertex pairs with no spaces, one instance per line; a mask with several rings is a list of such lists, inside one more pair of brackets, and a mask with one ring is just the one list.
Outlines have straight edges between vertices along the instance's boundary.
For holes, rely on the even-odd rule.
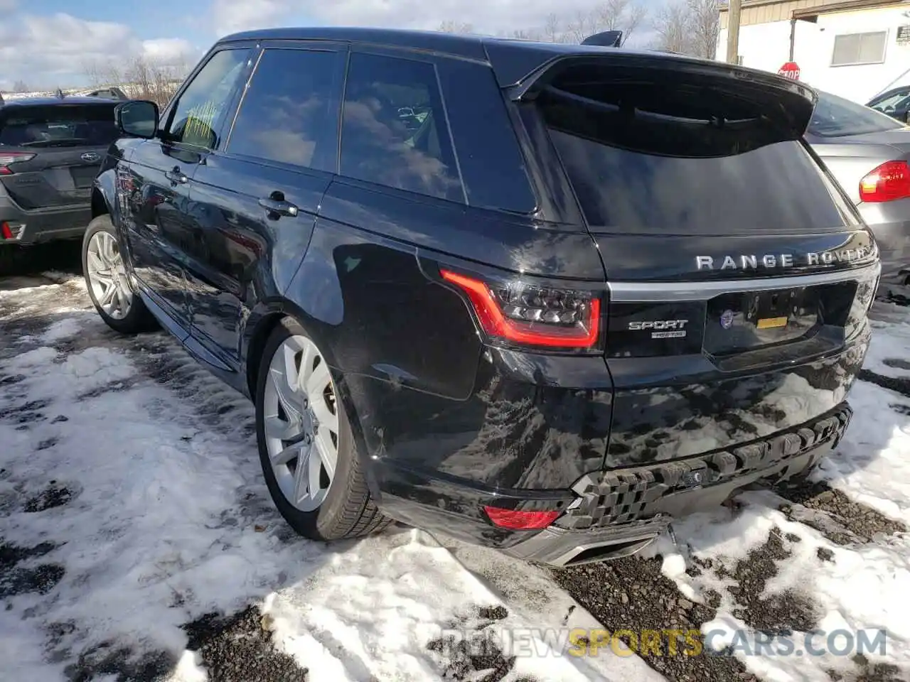
[[[110,216],[97,216],[86,227],[86,235],[82,238],[82,274],[86,279],[88,296],[92,299],[98,315],[111,329],[121,334],[153,331],[158,328],[157,320],[148,311],[142,299],[136,296],[136,292],[130,285],[126,271],[123,269],[123,256],[121,256],[116,240],[116,230],[114,224],[111,223]],[[98,269],[96,267],[98,265],[96,249],[99,241],[106,244],[113,242],[113,249],[110,252],[113,257],[109,258],[110,263],[104,262],[102,265],[108,266],[106,271],[116,270],[116,273],[110,277],[112,282],[110,286],[114,286],[115,289],[122,287],[122,292],[128,296],[128,304],[123,303],[126,296],[118,298],[120,303],[112,304],[116,305],[116,309],[110,306],[106,309],[102,305],[104,301],[99,300],[99,296],[103,298],[107,292],[106,287],[101,284],[103,280],[100,278],[100,274],[96,275]],[[116,286],[113,284],[115,280]]]

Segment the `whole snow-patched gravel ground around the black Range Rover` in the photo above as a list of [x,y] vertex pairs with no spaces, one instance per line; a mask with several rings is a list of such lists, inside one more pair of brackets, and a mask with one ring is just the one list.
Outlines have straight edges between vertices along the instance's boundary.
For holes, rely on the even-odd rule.
[[[73,273],[0,278],[0,679],[908,679],[910,308],[875,318],[824,481],[551,574],[401,527],[294,537],[243,398],[163,334],[116,336]],[[445,646],[450,627],[501,650]],[[732,655],[575,657],[542,630],[510,650],[529,627],[701,629]],[[735,634],[878,627],[884,656],[752,656]]]

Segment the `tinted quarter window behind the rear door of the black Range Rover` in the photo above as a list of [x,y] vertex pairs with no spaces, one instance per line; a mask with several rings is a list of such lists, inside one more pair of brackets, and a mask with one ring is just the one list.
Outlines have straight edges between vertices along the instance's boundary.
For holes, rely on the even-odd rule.
[[464,202],[433,65],[350,55],[340,161],[343,176]]

